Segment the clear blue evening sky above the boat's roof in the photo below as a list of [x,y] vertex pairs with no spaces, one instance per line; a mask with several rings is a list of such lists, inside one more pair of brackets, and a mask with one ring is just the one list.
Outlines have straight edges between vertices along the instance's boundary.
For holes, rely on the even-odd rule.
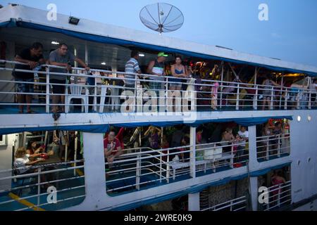
[[[139,20],[139,11],[158,0],[0,0],[101,23],[152,32]],[[317,66],[316,0],[163,0],[185,16],[180,30],[163,35],[202,44],[220,45],[259,56]],[[268,21],[259,20],[259,4],[268,5]]]

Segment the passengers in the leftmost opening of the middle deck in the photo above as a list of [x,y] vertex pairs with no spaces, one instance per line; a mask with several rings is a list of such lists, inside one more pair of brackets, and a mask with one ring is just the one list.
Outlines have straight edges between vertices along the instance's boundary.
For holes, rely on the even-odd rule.
[[[32,132],[31,134],[35,138],[31,136],[24,146],[15,150],[13,172],[16,175],[38,172],[38,166],[41,166],[42,171],[57,169],[57,165],[60,165],[61,162],[70,162],[83,158],[81,138],[79,133],[76,136],[75,131],[56,130],[49,132],[49,135],[46,136],[46,143],[41,137],[41,132]],[[80,164],[81,162],[77,162],[77,165]],[[54,180],[56,174],[49,173],[41,174],[40,176],[41,182],[46,182]],[[49,186],[51,184],[43,184],[41,188],[46,190]],[[37,192],[37,187],[34,186],[31,191]]]

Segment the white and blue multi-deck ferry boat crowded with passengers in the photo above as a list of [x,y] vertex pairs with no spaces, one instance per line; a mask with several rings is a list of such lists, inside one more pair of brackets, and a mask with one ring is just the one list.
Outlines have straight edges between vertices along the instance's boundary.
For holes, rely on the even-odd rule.
[[[47,13],[0,8],[0,210],[317,209],[316,67]],[[66,43],[89,72],[74,62],[68,73],[49,62],[18,69],[16,54],[34,42],[45,59]],[[142,74],[125,72],[135,49]],[[147,72],[158,53],[168,55],[164,77]],[[175,56],[191,75],[171,80]],[[68,82],[54,84],[52,75]],[[51,113],[53,85],[66,89],[61,113]],[[37,113],[18,113],[21,93]],[[104,142],[118,129],[122,154],[109,162]],[[53,155],[18,167],[31,143]]]

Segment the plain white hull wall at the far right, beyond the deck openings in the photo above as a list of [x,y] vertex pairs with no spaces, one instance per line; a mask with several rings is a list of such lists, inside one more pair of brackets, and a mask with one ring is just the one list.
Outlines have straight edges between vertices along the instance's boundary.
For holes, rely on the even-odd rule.
[[[291,179],[292,202],[297,203],[317,194],[317,110],[294,112],[294,120],[290,124]],[[297,116],[302,118],[300,122]]]

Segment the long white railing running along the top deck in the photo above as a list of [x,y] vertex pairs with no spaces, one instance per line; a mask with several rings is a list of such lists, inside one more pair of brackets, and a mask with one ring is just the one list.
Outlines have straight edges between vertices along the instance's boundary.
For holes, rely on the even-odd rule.
[[[25,63],[18,63],[14,61],[8,61],[8,60],[0,60],[2,63],[12,63],[12,64],[19,64],[19,65],[26,65]],[[54,94],[50,92],[50,87],[54,86],[63,86],[63,89],[66,87],[72,87],[72,86],[80,86],[86,89],[85,98],[83,97],[84,104],[81,104],[81,106],[85,106],[85,112],[89,113],[89,106],[93,106],[92,110],[93,112],[97,112],[97,106],[99,106],[99,113],[104,112],[104,106],[106,105],[106,108],[108,110],[118,110],[123,105],[120,103],[120,98],[126,98],[126,95],[133,94],[133,98],[135,98],[135,101],[133,105],[129,104],[129,113],[135,113],[136,111],[139,112],[139,109],[143,108],[143,102],[146,101],[150,96],[156,96],[154,98],[151,98],[151,104],[157,105],[159,107],[158,111],[161,111],[161,108],[164,108],[165,110],[168,109],[168,111],[173,110],[173,107],[175,107],[175,111],[182,112],[183,110],[186,110],[185,108],[182,108],[182,106],[190,106],[193,111],[197,111],[203,107],[209,107],[210,110],[216,110],[218,107],[222,108],[223,106],[226,106],[228,108],[232,108],[233,110],[240,110],[241,107],[247,106],[251,107],[254,110],[257,110],[258,103],[263,103],[263,108],[266,106],[267,99],[264,100],[263,98],[259,98],[259,96],[263,96],[264,94],[261,93],[261,91],[269,91],[271,94],[266,94],[267,96],[271,96],[271,100],[268,101],[268,109],[273,110],[274,107],[280,108],[280,110],[286,110],[287,109],[287,103],[289,104],[289,107],[301,109],[301,108],[308,108],[311,109],[313,103],[311,102],[311,90],[310,89],[304,89],[304,88],[286,88],[286,87],[280,87],[278,90],[274,86],[268,86],[268,85],[262,85],[262,84],[249,84],[249,83],[242,83],[242,82],[223,82],[218,80],[207,80],[207,79],[197,79],[194,77],[185,78],[185,77],[175,77],[176,81],[173,80],[173,82],[170,81],[170,76],[157,76],[157,75],[147,75],[147,74],[135,74],[131,72],[118,72],[118,71],[110,71],[110,70],[97,70],[97,69],[90,69],[89,72],[104,72],[104,76],[101,75],[90,75],[87,73],[87,71],[84,68],[73,68],[72,73],[67,72],[56,72],[56,71],[50,71],[51,69],[65,69],[63,67],[58,67],[55,65],[41,65],[42,68],[46,68],[46,71],[36,71],[37,74],[46,76],[46,82],[21,82],[21,81],[7,81],[7,80],[0,80],[0,83],[10,83],[10,84],[34,84],[37,86],[42,86],[41,91],[33,91],[34,93],[27,92],[18,92],[18,91],[0,91],[0,94],[5,94],[6,96],[8,94],[23,94],[23,95],[29,95],[29,96],[39,96],[41,97],[41,101],[38,103],[10,103],[10,105],[38,105],[38,106],[45,106],[45,112],[49,113],[49,109],[51,106],[66,106],[66,113],[68,113],[69,106],[70,105],[80,105],[80,104],[74,104],[70,103],[70,98],[75,98],[74,96],[71,96],[66,93],[62,94]],[[35,73],[34,70],[20,70],[15,68],[0,68],[0,71],[19,71],[19,72],[27,72],[30,74]],[[69,84],[53,84],[50,82],[49,77],[50,76],[61,76],[63,79],[66,79],[64,77],[70,78]],[[132,77],[127,77],[125,75],[133,75]],[[120,77],[124,76],[124,77]],[[72,77],[83,77],[84,79],[92,78],[94,79],[94,84],[87,84],[87,80],[85,83],[80,82],[76,84],[73,82],[74,80]],[[151,79],[149,79],[151,78]],[[157,78],[157,79],[156,79]],[[99,84],[97,82],[97,79],[106,79],[111,81],[124,81],[126,82],[132,82],[135,84],[134,87],[129,86],[121,86],[121,85],[108,85],[108,84]],[[161,84],[161,88],[159,86],[157,88],[152,87],[148,88],[147,84]],[[168,84],[184,84],[184,82],[187,85],[187,89],[180,89],[180,90],[173,90],[170,89],[170,86]],[[214,87],[216,86],[216,83],[220,82],[220,91],[215,91]],[[163,88],[163,84],[165,84],[165,88]],[[46,90],[44,91],[44,88],[46,87]],[[227,89],[229,88],[229,89]],[[101,94],[99,94],[98,90],[101,89]],[[232,91],[232,89],[234,91]],[[105,104],[104,100],[107,96],[107,91],[111,90],[111,103]],[[119,94],[120,90],[123,91],[122,94]],[[227,91],[226,91],[227,90]],[[247,93],[243,93],[242,90],[247,91]],[[248,90],[253,90],[255,92],[251,92]],[[132,91],[132,92],[127,92]],[[134,93],[133,93],[134,91]],[[152,91],[152,92],[151,92]],[[275,91],[278,91],[275,93]],[[98,92],[98,93],[97,93]],[[216,94],[218,93],[218,94]],[[154,95],[155,94],[155,95]],[[240,96],[242,94],[242,96]],[[66,103],[50,103],[49,97],[50,96],[70,96],[68,98],[68,101]],[[100,103],[97,103],[97,97],[101,96],[102,101]],[[220,96],[220,98],[219,98]],[[245,96],[247,96],[245,98]],[[288,99],[288,96],[296,96],[296,99]],[[300,100],[302,96],[305,97],[305,99]],[[89,103],[87,100],[87,97],[93,97],[94,101],[93,103]],[[275,98],[274,98],[275,97]],[[45,102],[43,101],[43,98],[46,98]],[[131,96],[132,98],[132,96]],[[173,103],[173,98],[175,98],[175,103]],[[58,99],[58,98],[56,98]],[[161,101],[161,99],[166,99],[168,101]],[[154,102],[152,102],[154,101]],[[223,101],[225,103],[223,103]],[[232,103],[234,101],[234,103]],[[284,101],[284,105],[282,104],[282,101]],[[189,103],[190,102],[190,103]],[[275,104],[274,104],[275,103]],[[8,105],[8,103],[0,103],[0,105]],[[176,109],[177,107],[177,109]],[[165,112],[164,110],[164,112]],[[143,111],[142,111],[143,112]]]

